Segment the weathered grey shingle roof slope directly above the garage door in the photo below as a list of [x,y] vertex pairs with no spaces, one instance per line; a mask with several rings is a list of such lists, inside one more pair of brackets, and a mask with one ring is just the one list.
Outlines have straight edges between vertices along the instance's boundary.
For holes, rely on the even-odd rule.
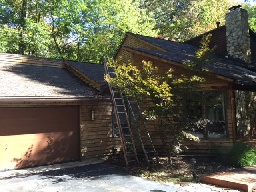
[[65,68],[0,64],[0,96],[99,97]]

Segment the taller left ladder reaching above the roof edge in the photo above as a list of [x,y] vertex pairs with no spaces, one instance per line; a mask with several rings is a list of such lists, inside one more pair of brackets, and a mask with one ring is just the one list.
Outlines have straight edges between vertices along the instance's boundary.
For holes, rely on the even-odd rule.
[[[108,74],[110,77],[114,76],[114,72],[109,71],[109,69],[112,70],[112,68],[108,66],[105,56],[104,56],[104,69],[105,69],[105,73]],[[129,118],[128,118],[128,114],[127,114],[127,110],[126,110],[126,106],[125,106],[124,97],[123,97],[122,92],[119,89],[118,89],[118,91],[116,89],[114,90],[111,83],[108,83],[108,86],[109,86],[109,90],[110,90],[110,94],[111,94],[111,98],[112,98],[112,102],[113,102],[114,113],[115,113],[115,116],[116,116],[116,123],[117,123],[117,126],[118,126],[118,132],[120,134],[120,139],[121,139],[121,143],[122,143],[122,150],[123,150],[123,153],[124,153],[124,160],[125,160],[126,166],[128,166],[128,162],[132,162],[132,161],[137,161],[138,162],[138,156],[137,156],[137,152],[136,152],[136,148],[135,148],[134,139],[133,139],[133,136],[132,136],[130,121],[129,121]],[[115,96],[115,95],[117,95],[117,96]],[[122,104],[120,104],[120,101],[122,101],[121,102]],[[120,116],[122,116],[121,114],[125,115],[125,119],[120,119]],[[122,127],[121,121],[126,122],[127,127]],[[128,129],[129,130],[129,136],[130,136],[129,142],[125,142],[125,140],[124,140],[123,129],[126,129],[126,130]],[[128,151],[127,152],[127,148],[126,148],[127,145],[129,145],[129,146],[132,145],[133,151]],[[130,154],[134,154],[135,160],[128,160],[128,156],[130,156]]]

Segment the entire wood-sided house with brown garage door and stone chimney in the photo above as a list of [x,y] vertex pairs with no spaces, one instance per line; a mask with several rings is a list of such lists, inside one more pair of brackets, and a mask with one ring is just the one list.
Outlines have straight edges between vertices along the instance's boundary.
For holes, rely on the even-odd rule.
[[[205,65],[213,73],[200,91],[222,98],[218,113],[206,110],[222,124],[197,130],[199,143],[184,141],[184,152],[193,154],[210,153],[216,145],[230,148],[237,132],[234,92],[256,91],[256,38],[247,12],[231,10],[226,25],[207,33],[218,47],[216,60]],[[180,43],[126,33],[114,58],[136,66],[148,60],[159,73],[184,73],[182,63],[194,57],[201,38]],[[112,155],[121,148],[113,119],[102,64],[0,53],[0,170]],[[151,124],[148,130],[154,134]],[[161,152],[160,140],[153,142]]]

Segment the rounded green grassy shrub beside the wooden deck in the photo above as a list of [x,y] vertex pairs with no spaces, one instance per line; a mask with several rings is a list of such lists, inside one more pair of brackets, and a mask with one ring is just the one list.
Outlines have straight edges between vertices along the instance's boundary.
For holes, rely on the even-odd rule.
[[236,167],[251,166],[256,163],[256,150],[248,143],[237,142],[222,154],[222,160]]

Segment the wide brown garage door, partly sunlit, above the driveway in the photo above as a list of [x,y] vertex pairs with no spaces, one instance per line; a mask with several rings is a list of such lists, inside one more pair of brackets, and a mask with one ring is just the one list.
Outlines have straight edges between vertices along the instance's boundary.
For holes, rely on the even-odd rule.
[[0,108],[0,170],[79,159],[79,108]]

